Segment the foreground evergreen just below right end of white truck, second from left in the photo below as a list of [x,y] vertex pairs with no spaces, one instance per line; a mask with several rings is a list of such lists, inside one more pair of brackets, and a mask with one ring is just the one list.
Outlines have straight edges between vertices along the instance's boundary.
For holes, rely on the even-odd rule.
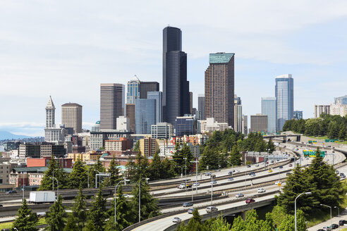
[[46,215],[46,222],[49,225],[46,230],[49,231],[63,231],[66,217],[65,208],[63,206],[63,198],[59,194],[58,199],[49,208],[49,213]]

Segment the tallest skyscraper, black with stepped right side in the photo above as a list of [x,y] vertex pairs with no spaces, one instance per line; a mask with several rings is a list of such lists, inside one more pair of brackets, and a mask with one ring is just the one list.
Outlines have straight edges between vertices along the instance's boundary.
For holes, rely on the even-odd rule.
[[182,51],[182,32],[176,27],[163,30],[163,113],[164,121],[190,113],[187,54]]

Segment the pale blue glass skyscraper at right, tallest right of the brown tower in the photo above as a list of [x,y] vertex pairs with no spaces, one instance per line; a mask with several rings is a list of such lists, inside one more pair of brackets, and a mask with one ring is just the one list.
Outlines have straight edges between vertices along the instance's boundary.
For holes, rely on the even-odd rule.
[[293,118],[294,111],[294,80],[291,74],[276,77],[276,130],[283,129],[286,120]]

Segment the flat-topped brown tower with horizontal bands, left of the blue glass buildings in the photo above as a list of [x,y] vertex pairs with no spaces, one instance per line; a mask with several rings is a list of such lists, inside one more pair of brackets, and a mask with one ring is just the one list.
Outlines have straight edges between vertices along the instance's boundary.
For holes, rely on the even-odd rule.
[[124,116],[125,86],[116,83],[100,85],[100,130],[116,130],[117,118]]

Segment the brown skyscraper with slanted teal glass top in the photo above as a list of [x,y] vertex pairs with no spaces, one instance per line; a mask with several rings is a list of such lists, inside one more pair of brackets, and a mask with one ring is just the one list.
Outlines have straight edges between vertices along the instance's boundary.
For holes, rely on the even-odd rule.
[[234,125],[234,55],[209,54],[205,71],[205,116]]

